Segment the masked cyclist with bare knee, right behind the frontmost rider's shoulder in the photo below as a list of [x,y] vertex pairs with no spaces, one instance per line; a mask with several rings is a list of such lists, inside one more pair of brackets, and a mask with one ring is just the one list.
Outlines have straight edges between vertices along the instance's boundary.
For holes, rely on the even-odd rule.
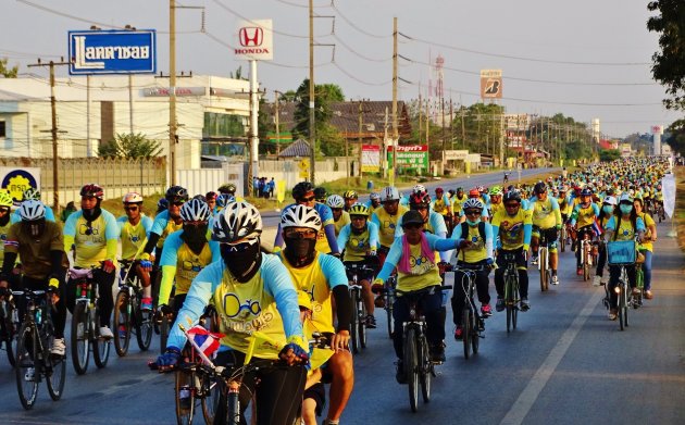
[[[323,372],[332,377],[326,423],[337,424],[354,386],[352,354],[349,351],[351,304],[345,267],[340,261],[314,249],[320,227],[321,218],[314,209],[288,207],[281,215],[285,248],[277,255],[290,272],[296,289],[300,293],[304,291],[311,299],[312,329],[334,333],[329,345],[335,353],[323,366]],[[334,300],[337,328],[333,322]]]

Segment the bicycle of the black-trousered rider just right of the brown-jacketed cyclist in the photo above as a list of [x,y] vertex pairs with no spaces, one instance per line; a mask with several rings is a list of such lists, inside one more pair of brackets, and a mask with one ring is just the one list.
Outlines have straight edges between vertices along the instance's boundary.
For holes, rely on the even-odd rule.
[[76,303],[72,314],[72,363],[78,375],[88,370],[90,351],[98,368],[107,366],[110,357],[110,340],[100,336],[100,296],[95,268],[70,268],[70,279],[76,286]]

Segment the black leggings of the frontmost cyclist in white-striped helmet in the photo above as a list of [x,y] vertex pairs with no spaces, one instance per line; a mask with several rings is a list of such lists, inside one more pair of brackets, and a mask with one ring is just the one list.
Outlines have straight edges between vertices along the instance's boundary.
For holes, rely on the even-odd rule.
[[[238,351],[224,351],[216,355],[215,364],[242,364],[245,354]],[[245,410],[256,396],[258,425],[291,425],[300,410],[307,370],[304,366],[274,365],[272,360],[253,359],[252,363],[261,363],[257,372],[242,377],[240,386],[240,424],[245,421]],[[258,383],[258,384],[256,384]],[[222,395],[214,416],[214,425],[226,422],[226,399]]]

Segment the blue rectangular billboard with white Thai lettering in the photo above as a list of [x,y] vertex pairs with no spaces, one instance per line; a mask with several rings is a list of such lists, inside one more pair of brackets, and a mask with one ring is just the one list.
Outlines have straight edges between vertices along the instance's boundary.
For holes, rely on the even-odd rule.
[[154,74],[154,29],[68,32],[68,73]]

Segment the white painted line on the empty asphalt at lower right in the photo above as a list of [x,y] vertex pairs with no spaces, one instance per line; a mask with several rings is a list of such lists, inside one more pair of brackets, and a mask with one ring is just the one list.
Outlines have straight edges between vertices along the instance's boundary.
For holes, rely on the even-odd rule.
[[526,387],[523,389],[523,391],[513,403],[509,412],[507,412],[507,415],[505,415],[500,424],[518,425],[523,423],[523,420],[531,411],[531,408],[533,408],[533,404],[543,391],[543,388],[545,388],[545,385],[547,385],[547,382],[551,377],[552,373],[555,373],[555,370],[559,365],[559,362],[561,362],[561,359],[563,359],[566,351],[569,350],[569,347],[571,347],[571,343],[578,335],[578,332],[587,321],[587,317],[589,317],[589,315],[597,307],[597,303],[599,303],[603,296],[603,288],[598,288],[598,290],[595,291],[595,293],[587,301],[583,310],[581,310],[577,316],[575,316],[573,323],[571,323],[571,326],[569,326],[569,328],[564,330],[563,335],[561,335],[561,338],[559,338],[559,341],[557,341],[555,348],[552,348],[552,350],[549,352],[549,355],[547,355],[547,359],[545,359],[543,364],[535,372],[535,375],[533,375],[533,377],[528,382],[528,385],[526,385]]

